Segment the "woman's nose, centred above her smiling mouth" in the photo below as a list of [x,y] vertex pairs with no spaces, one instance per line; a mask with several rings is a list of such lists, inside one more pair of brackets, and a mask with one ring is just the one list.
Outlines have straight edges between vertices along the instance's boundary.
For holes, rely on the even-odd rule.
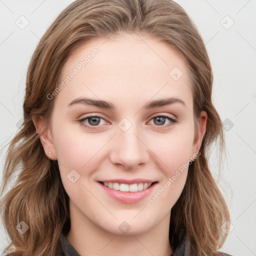
[[126,169],[135,169],[149,160],[148,147],[144,136],[132,125],[127,131],[119,129],[112,141],[110,160]]

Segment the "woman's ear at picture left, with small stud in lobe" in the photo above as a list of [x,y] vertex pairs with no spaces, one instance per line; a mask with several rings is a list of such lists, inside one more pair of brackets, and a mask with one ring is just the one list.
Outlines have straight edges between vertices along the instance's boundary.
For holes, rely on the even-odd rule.
[[46,120],[41,116],[32,117],[36,133],[40,135],[40,141],[44,148],[46,156],[51,160],[56,160],[56,151],[52,141],[51,128],[46,123]]

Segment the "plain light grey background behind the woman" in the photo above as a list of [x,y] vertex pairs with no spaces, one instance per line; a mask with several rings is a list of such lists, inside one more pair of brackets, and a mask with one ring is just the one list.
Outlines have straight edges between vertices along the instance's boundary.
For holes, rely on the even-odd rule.
[[[0,0],[0,148],[13,137],[22,118],[31,54],[46,28],[71,2]],[[222,121],[229,119],[223,124],[227,129],[227,158],[220,169],[214,148],[210,158],[234,227],[221,250],[232,255],[256,255],[256,1],[177,2],[203,37],[214,73],[213,102]],[[21,23],[21,15],[29,21],[24,29],[15,23]],[[1,154],[1,173],[3,160]],[[0,251],[6,242],[0,222]]]

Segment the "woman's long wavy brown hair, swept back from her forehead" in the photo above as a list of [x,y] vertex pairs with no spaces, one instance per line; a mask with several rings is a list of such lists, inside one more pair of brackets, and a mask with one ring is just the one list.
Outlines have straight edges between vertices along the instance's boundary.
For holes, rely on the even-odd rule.
[[[70,228],[69,197],[56,160],[44,153],[32,117],[50,120],[61,68],[80,44],[93,38],[142,33],[166,42],[187,62],[191,73],[195,131],[200,111],[207,112],[200,156],[188,169],[184,189],[171,209],[169,241],[172,250],[185,229],[194,255],[217,255],[229,220],[226,203],[208,167],[207,152],[219,138],[224,148],[220,117],[211,101],[212,70],[203,40],[186,12],[172,0],[76,0],[54,20],[31,57],[23,103],[24,121],[11,140],[3,172],[1,215],[11,239],[5,252],[13,255],[53,256],[60,233]],[[12,186],[4,194],[7,185]],[[16,225],[24,221],[22,235]]]

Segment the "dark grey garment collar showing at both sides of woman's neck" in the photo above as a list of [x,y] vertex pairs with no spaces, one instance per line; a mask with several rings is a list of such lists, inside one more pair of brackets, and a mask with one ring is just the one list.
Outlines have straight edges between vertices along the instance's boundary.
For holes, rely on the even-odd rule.
[[[72,245],[66,240],[65,236],[61,233],[60,243],[62,251],[59,256],[80,256]],[[190,255],[190,243],[186,238],[186,235],[183,235],[182,239],[179,242],[178,247],[175,249],[170,256],[189,256]],[[222,256],[231,256],[229,254],[222,253]]]

